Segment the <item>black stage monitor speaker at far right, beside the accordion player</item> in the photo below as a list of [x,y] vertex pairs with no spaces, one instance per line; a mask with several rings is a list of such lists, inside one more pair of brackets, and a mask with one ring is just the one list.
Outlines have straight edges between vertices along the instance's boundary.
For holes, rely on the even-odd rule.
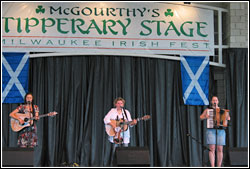
[[229,148],[229,162],[231,166],[247,166],[248,165],[247,147]]

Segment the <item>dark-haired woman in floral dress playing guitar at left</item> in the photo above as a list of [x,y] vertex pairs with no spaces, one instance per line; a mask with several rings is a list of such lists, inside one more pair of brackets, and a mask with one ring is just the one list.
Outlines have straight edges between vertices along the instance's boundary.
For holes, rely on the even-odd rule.
[[[23,116],[35,117],[35,120],[39,120],[39,107],[33,104],[32,93],[27,93],[24,97],[24,104],[18,106],[14,111],[10,113],[10,117],[19,121],[21,125],[25,123]],[[19,147],[35,147],[37,146],[37,133],[36,124],[34,121],[30,121],[26,127],[19,131],[18,146]]]

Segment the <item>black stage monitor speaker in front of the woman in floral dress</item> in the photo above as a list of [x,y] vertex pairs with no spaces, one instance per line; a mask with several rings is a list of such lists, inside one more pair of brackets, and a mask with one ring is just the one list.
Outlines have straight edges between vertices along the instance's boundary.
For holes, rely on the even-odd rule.
[[33,148],[3,148],[2,165],[4,167],[33,167]]

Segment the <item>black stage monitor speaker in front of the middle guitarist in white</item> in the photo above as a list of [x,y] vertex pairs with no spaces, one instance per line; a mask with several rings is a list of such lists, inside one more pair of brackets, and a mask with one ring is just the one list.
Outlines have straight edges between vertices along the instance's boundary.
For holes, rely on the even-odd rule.
[[150,166],[149,150],[145,147],[117,147],[115,166],[118,167],[145,167]]

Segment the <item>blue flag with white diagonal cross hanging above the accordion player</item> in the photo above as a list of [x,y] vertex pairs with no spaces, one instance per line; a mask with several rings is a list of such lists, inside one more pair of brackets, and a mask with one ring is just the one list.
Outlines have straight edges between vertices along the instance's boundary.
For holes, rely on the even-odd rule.
[[183,101],[186,105],[209,105],[209,56],[181,56]]

